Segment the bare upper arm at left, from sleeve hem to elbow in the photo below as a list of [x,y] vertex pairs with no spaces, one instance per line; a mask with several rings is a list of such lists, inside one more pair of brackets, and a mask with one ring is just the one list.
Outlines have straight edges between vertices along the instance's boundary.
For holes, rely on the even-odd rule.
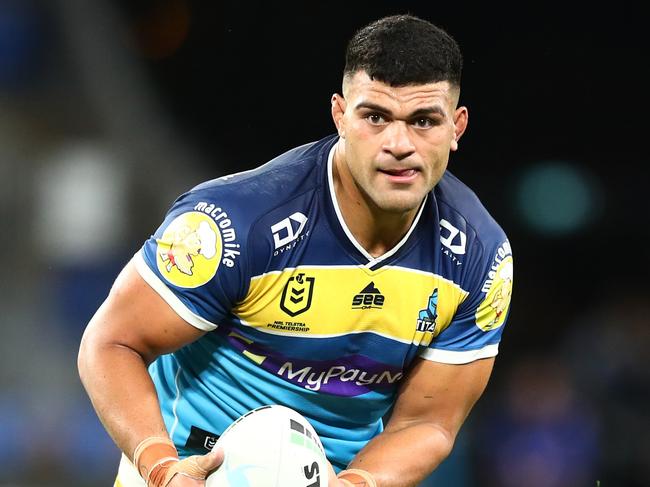
[[129,262],[90,320],[84,346],[122,346],[146,363],[190,343],[205,332],[183,320]]

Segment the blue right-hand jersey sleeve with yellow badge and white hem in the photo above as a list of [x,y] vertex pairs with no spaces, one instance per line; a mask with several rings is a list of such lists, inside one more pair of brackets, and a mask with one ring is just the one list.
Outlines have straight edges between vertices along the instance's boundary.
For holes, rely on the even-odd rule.
[[421,357],[443,363],[464,364],[498,353],[508,318],[513,284],[513,258],[503,232],[483,247],[474,242],[475,259],[464,276],[466,299],[451,323],[422,350]]

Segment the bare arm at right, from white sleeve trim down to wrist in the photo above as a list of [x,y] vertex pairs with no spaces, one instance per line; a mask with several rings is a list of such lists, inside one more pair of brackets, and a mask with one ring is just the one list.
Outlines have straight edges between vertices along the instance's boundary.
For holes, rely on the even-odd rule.
[[494,359],[449,365],[417,359],[402,385],[385,431],[349,468],[371,472],[380,487],[415,486],[451,452]]

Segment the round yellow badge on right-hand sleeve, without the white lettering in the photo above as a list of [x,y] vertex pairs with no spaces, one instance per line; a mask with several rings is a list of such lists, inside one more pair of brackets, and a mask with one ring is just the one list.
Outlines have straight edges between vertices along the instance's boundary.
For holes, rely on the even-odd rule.
[[494,330],[503,325],[510,307],[512,278],[512,256],[507,256],[498,264],[487,295],[476,311],[476,325],[481,330]]

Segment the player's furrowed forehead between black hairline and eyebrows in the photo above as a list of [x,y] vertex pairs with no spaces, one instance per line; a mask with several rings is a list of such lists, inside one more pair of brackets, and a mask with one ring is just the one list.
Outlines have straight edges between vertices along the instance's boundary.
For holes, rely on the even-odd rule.
[[453,109],[456,104],[456,90],[449,82],[439,81],[418,85],[391,86],[371,79],[359,71],[343,83],[344,96],[348,103],[381,105],[391,111],[413,110],[424,106],[440,106]]

